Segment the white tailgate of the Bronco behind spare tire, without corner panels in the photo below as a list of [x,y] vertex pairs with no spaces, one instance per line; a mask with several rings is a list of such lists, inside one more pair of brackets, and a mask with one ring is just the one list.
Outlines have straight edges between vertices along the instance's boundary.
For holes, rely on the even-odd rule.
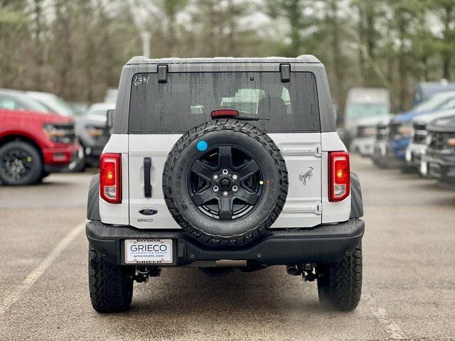
[[[164,202],[161,175],[164,163],[180,134],[129,135],[129,224],[139,229],[179,229]],[[289,172],[289,193],[284,210],[272,227],[312,227],[321,224],[321,134],[269,134],[281,149]],[[144,158],[151,158],[152,197],[144,197]],[[306,185],[299,175],[311,170]],[[144,207],[158,213],[144,217]]]

